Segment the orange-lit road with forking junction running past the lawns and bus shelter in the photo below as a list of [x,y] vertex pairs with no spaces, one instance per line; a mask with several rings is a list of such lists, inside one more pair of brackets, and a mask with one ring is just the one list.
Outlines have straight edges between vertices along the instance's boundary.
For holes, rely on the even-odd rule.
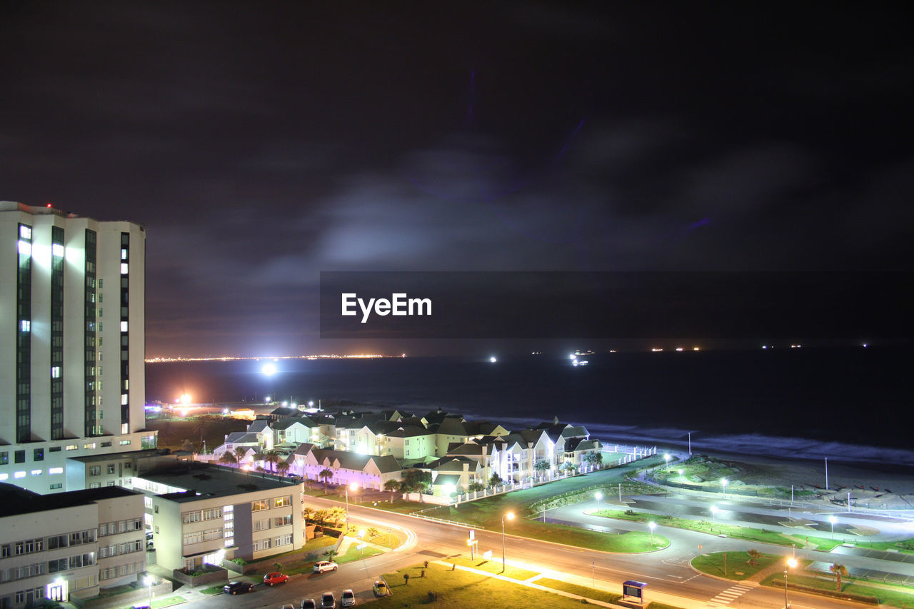
[[[334,501],[317,497],[309,497],[308,501],[319,507],[338,505]],[[465,554],[467,551],[467,528],[374,508],[350,506],[349,509],[352,519],[357,524],[375,526],[382,530],[391,527],[411,530],[415,537],[399,550],[373,556],[364,561],[340,565],[338,572],[295,575],[289,582],[273,588],[258,585],[253,593],[233,597],[231,605],[237,609],[268,606],[279,609],[282,604],[291,603],[297,608],[303,598],[314,598],[319,601],[320,594],[325,590],[333,591],[338,600],[345,588],[354,589],[359,604],[362,604],[373,598],[371,586],[382,573],[393,572],[422,561],[446,559]],[[638,528],[637,524],[625,524],[629,529]],[[658,528],[657,532],[661,532],[661,528]],[[715,538],[682,529],[663,529],[663,534],[671,539],[670,547],[649,554],[611,554],[547,541],[527,540],[507,534],[505,554],[508,561],[514,564],[527,565],[538,571],[569,573],[587,579],[593,577],[598,582],[611,584],[611,589],[614,590],[621,590],[622,582],[629,579],[647,582],[649,593],[673,594],[689,599],[690,601],[685,604],[691,607],[771,609],[783,606],[784,596],[781,590],[718,580],[696,573],[689,567],[689,561],[699,551],[746,550],[747,542]],[[493,550],[495,560],[501,558],[501,531],[477,529],[475,536],[479,540],[479,551]],[[702,545],[702,550],[698,550],[699,545]],[[771,547],[766,547],[765,550],[770,551]],[[216,609],[225,606],[227,602],[225,595],[217,595],[196,601],[194,605],[201,609]],[[795,609],[865,606],[795,592],[791,593],[791,604]]]

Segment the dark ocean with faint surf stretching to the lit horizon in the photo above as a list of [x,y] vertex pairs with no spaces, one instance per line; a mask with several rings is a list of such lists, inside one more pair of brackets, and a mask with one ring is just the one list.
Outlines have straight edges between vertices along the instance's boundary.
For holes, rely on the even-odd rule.
[[[441,408],[509,428],[587,426],[604,443],[914,466],[902,347],[480,358],[271,359],[146,365],[147,401]],[[260,371],[266,362],[277,372]]]

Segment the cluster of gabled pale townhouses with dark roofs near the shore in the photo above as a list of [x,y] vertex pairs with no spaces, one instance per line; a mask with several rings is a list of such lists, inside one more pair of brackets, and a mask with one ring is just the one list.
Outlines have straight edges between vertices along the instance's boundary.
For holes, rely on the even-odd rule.
[[[389,479],[401,479],[403,470],[416,468],[431,473],[437,493],[466,492],[475,485],[488,486],[492,475],[506,482],[526,482],[556,475],[569,465],[586,469],[585,455],[602,450],[586,428],[558,419],[512,433],[500,425],[468,422],[441,411],[396,422],[365,415],[353,419],[346,413],[337,421],[345,424],[337,428],[334,449],[300,443],[274,450],[285,459],[290,474],[380,489]],[[484,433],[493,431],[498,434]],[[368,443],[372,451],[367,450]]]

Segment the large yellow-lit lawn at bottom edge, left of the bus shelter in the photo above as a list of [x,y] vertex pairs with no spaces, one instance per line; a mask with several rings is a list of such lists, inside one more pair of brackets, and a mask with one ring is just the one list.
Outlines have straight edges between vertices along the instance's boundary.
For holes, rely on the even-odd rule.
[[[517,607],[550,607],[556,609],[579,608],[581,602],[527,588],[516,583],[504,582],[488,575],[465,571],[451,571],[449,567],[430,564],[426,577],[420,578],[421,565],[385,574],[392,594],[377,599],[373,607],[420,607],[426,604],[435,609],[465,609],[486,607],[486,609],[516,609]],[[409,585],[405,585],[403,574],[409,574]],[[429,602],[429,593],[438,593],[437,602]]]

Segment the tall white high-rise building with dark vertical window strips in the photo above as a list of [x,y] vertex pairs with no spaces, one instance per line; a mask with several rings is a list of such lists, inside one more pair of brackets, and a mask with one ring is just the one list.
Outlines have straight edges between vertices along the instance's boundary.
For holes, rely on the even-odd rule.
[[0,482],[68,489],[66,458],[145,431],[145,230],[0,201]]

